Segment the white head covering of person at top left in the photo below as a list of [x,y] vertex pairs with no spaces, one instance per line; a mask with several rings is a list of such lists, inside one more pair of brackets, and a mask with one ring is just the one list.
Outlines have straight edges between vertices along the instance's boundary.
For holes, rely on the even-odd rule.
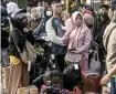
[[18,7],[18,4],[14,3],[14,2],[9,2],[9,3],[7,4],[7,10],[8,10],[8,13],[13,13],[13,12],[15,12],[17,10],[19,10],[19,7]]

